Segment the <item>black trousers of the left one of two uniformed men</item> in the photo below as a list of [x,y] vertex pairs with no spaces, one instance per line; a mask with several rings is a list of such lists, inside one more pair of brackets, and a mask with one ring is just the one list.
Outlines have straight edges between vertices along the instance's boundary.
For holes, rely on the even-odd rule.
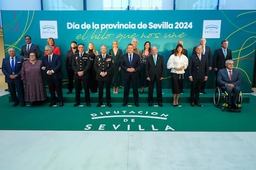
[[75,79],[75,103],[80,103],[81,83],[85,91],[85,102],[90,102],[90,83],[88,78]]

